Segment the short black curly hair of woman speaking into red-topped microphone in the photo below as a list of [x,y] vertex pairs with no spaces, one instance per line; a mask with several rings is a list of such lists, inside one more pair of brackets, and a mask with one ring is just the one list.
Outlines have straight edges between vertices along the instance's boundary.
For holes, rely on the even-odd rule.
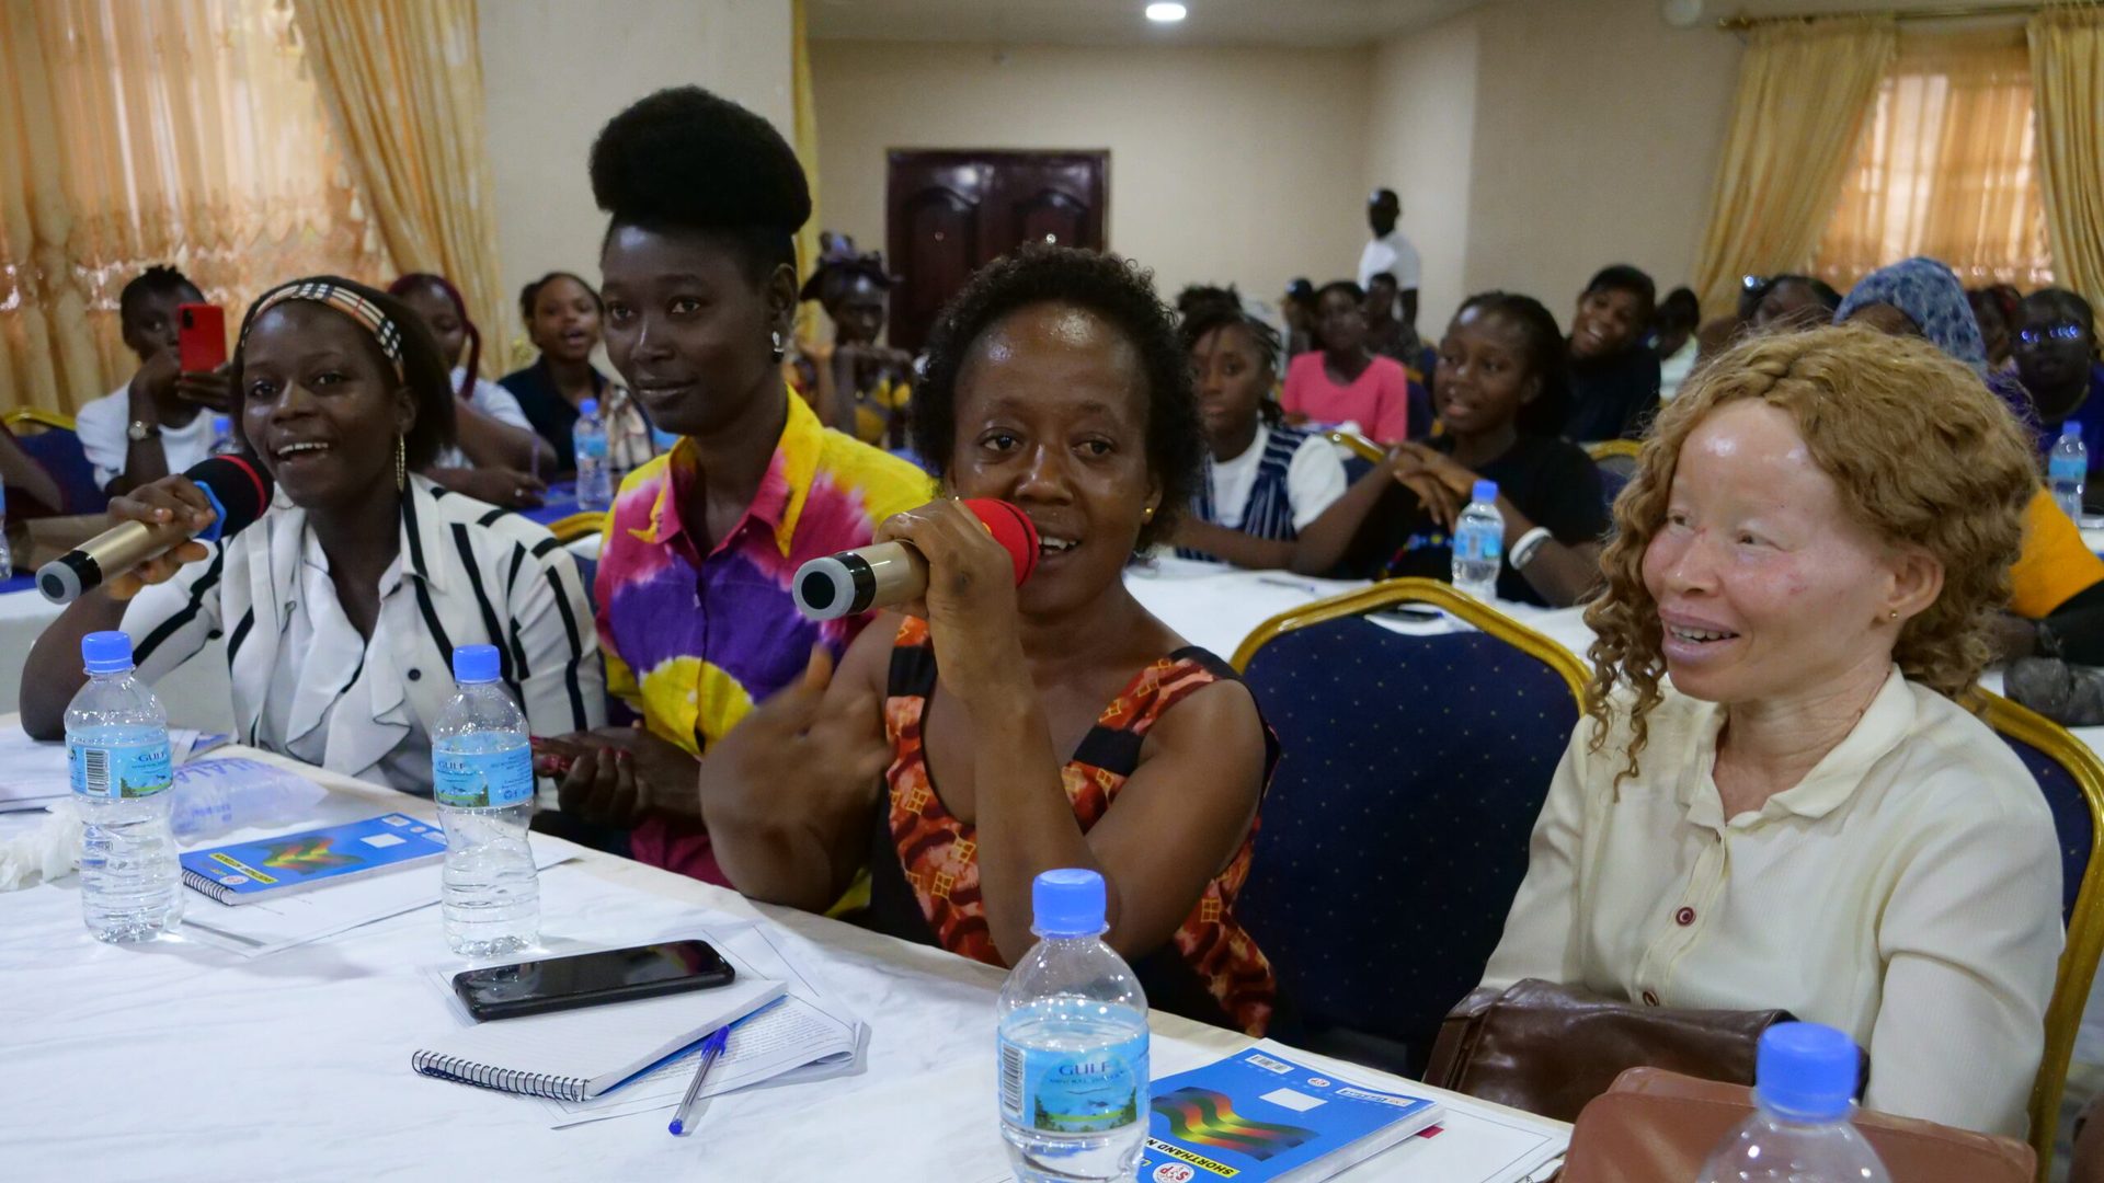
[[1147,377],[1147,467],[1161,486],[1161,507],[1140,528],[1138,547],[1168,537],[1197,497],[1206,474],[1206,436],[1191,392],[1191,356],[1176,337],[1153,274],[1115,255],[1073,246],[1025,244],[974,274],[928,333],[928,370],[913,389],[913,450],[928,472],[949,472],[957,446],[957,375],[972,345],[1002,318],[1041,303],[1071,303],[1109,320],[1140,356]]

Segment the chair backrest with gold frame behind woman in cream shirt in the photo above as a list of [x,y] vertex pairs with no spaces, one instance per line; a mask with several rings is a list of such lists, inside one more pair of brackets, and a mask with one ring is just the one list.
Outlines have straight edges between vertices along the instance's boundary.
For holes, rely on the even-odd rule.
[[2098,840],[2104,838],[2104,760],[2058,722],[2001,695],[1976,695],[1980,718],[2039,783],[2060,836],[2060,916],[2068,926],[2068,943],[2060,954],[2054,1000],[2045,1006],[2045,1057],[2030,1088],[2030,1145],[2039,1151],[2039,1179],[2045,1179],[2075,1036],[2098,973],[2098,954],[2104,951],[2104,876],[2098,874],[2096,859]]

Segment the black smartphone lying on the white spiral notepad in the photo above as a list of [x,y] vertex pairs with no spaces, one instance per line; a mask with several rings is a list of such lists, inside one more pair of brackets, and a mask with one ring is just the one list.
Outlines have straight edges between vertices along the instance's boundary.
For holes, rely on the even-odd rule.
[[734,979],[736,970],[707,941],[661,941],[463,970],[452,975],[452,991],[480,1021],[713,989]]

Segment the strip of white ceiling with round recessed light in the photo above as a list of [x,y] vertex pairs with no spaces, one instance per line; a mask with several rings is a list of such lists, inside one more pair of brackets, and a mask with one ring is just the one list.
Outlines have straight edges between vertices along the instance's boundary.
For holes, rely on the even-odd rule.
[[1149,23],[1145,0],[810,0],[814,38],[1006,44],[1355,46],[1435,25],[1488,0],[1182,0]]

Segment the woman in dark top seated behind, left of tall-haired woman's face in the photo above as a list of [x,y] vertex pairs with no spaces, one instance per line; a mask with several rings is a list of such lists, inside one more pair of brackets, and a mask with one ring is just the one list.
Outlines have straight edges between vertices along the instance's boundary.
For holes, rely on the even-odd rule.
[[501,385],[520,400],[520,408],[551,448],[555,472],[576,472],[579,406],[600,400],[606,423],[606,461],[614,474],[629,474],[656,455],[650,440],[650,419],[635,404],[627,385],[606,381],[591,364],[600,345],[600,318],[606,312],[600,293],[570,272],[549,272],[520,288],[520,316],[526,337],[541,349],[534,364],[511,370]]

